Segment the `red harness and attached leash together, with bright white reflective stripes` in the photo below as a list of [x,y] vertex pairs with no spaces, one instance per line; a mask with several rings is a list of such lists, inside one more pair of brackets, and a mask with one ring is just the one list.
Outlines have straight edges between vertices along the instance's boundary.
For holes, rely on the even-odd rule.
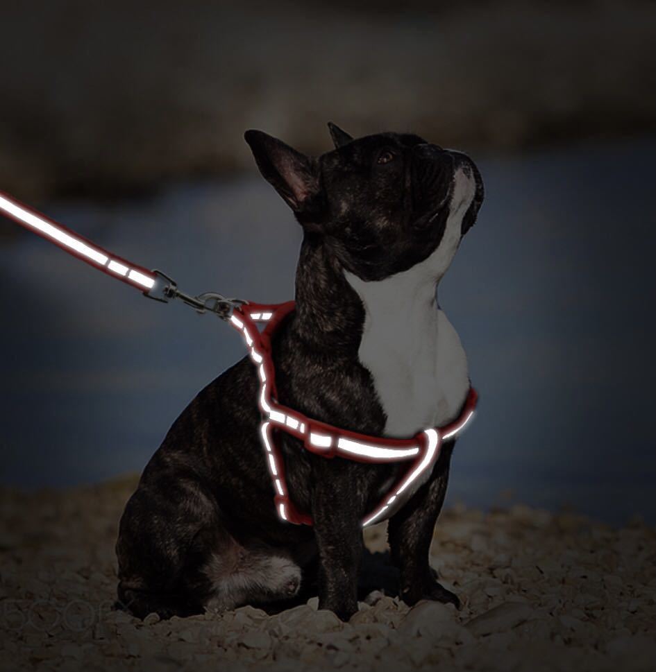
[[[435,466],[445,440],[454,439],[473,417],[478,394],[469,388],[460,415],[444,427],[430,427],[412,438],[398,439],[369,436],[314,420],[293,408],[278,403],[276,372],[271,354],[271,337],[283,319],[294,311],[294,302],[257,304],[242,299],[226,298],[216,292],[192,296],[178,289],[177,283],[160,270],[147,270],[95,245],[74,231],[53,221],[17,200],[0,192],[0,212],[58,245],[62,250],[85,261],[110,277],[136,287],[150,299],[168,303],[180,299],[198,313],[215,313],[237,329],[246,350],[258,371],[258,407],[262,415],[260,438],[267,455],[267,468],[274,488],[274,505],[278,517],[298,525],[312,525],[312,517],[299,511],[287,490],[285,464],[275,435],[287,433],[301,440],[303,447],[323,458],[340,457],[362,463],[410,463],[382,497],[376,508],[362,519],[362,527],[381,522],[412,497],[426,483]],[[256,323],[265,322],[262,331]]]

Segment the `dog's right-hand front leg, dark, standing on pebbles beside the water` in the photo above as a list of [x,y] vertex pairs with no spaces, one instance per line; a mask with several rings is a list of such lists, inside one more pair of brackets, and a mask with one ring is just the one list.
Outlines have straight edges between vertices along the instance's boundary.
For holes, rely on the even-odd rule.
[[399,570],[401,598],[409,605],[435,600],[460,608],[457,596],[437,583],[437,572],[429,562],[432,533],[446,495],[452,448],[453,444],[444,446],[430,480],[389,519],[387,526],[392,561]]

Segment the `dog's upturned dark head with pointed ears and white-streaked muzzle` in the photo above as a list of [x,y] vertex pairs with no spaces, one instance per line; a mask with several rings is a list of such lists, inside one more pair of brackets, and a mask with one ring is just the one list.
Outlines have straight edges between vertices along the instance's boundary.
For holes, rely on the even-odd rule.
[[353,139],[329,127],[335,150],[318,158],[258,130],[244,137],[306,235],[345,270],[380,280],[430,257],[428,272],[439,279],[482,203],[476,165],[417,135]]

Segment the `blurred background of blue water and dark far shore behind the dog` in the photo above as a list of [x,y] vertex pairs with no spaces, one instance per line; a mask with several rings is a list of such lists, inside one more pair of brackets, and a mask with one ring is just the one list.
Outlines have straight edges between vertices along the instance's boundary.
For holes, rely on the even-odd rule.
[[[471,153],[487,197],[439,300],[481,402],[450,501],[656,519],[653,2],[0,5],[0,189],[192,293],[292,297],[300,231],[246,128]],[[239,339],[0,234],[2,483],[141,469]]]

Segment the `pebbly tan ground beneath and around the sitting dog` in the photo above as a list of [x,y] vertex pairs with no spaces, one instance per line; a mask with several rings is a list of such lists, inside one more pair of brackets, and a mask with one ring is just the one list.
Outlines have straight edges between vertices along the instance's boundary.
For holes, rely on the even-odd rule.
[[[349,623],[268,616],[137,621],[112,610],[117,521],[135,479],[0,491],[1,660],[12,670],[653,670],[656,535],[525,506],[446,510],[432,564],[464,603],[370,594]],[[371,551],[385,529],[367,531]],[[9,668],[8,668],[9,669]]]

